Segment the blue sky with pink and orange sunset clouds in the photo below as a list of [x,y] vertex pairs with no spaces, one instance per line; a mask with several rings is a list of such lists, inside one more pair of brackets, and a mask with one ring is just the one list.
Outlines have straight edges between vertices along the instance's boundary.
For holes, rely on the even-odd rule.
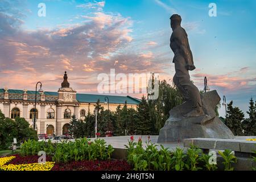
[[[170,16],[183,18],[196,70],[191,78],[243,111],[256,100],[256,1],[0,1],[0,88],[57,91],[68,72],[80,93],[97,93],[100,73],[175,74]],[[38,16],[39,3],[46,16]],[[171,79],[171,80],[170,80]],[[130,94],[131,96],[137,96]],[[225,110],[220,109],[221,115]]]

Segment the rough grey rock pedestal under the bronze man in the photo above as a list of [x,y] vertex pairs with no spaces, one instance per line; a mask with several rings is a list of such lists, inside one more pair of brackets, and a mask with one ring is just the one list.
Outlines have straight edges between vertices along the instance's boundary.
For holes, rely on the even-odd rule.
[[158,143],[183,142],[187,138],[233,139],[232,131],[215,114],[215,107],[221,101],[217,91],[201,94],[201,100],[205,115],[200,117],[183,117],[191,110],[189,101],[174,107],[160,130]]

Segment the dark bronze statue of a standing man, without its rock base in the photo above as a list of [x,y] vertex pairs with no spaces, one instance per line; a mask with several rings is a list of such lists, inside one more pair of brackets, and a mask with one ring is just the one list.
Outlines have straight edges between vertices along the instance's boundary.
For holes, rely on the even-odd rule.
[[189,72],[196,69],[188,43],[188,35],[180,26],[181,16],[171,16],[172,35],[170,47],[174,52],[175,76],[174,84],[180,90],[186,101],[191,102],[191,111],[184,113],[184,117],[198,117],[204,115],[199,89],[190,80]]

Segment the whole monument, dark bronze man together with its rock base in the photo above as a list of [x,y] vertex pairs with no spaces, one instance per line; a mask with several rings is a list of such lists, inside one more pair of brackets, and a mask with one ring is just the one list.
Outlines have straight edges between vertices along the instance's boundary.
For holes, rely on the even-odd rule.
[[177,142],[186,138],[232,139],[232,131],[216,116],[215,108],[220,102],[216,90],[200,95],[190,80],[189,71],[196,69],[188,43],[188,36],[180,26],[181,17],[171,16],[171,43],[174,52],[174,83],[185,102],[170,111],[164,127],[159,132],[158,143]]

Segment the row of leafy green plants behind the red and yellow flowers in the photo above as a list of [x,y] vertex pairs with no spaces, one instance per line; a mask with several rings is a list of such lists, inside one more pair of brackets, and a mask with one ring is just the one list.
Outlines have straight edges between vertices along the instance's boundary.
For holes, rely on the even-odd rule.
[[28,140],[20,147],[20,154],[23,156],[37,155],[39,151],[45,151],[47,155],[52,156],[52,160],[56,163],[68,163],[111,159],[114,148],[111,145],[106,146],[105,140],[96,139],[91,142],[87,138],[61,143],[51,143],[51,140],[48,140],[47,143]]

